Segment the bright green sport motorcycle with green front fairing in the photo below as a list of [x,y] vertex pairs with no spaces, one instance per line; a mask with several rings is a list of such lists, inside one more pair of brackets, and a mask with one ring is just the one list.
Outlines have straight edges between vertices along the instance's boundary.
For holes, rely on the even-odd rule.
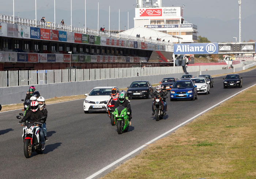
[[129,128],[129,116],[128,116],[127,108],[124,106],[118,106],[113,114],[114,120],[117,126],[117,133],[122,134],[123,132],[127,132]]

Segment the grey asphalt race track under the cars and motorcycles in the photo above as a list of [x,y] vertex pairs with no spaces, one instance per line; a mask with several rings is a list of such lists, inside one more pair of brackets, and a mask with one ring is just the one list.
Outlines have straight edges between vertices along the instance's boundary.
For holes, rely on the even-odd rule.
[[[23,154],[22,126],[16,119],[16,115],[22,111],[0,113],[0,178],[86,178],[187,119],[256,83],[256,69],[241,73],[240,76],[243,77],[242,88],[223,89],[223,77],[215,77],[210,94],[199,95],[195,101],[170,102],[168,96],[167,116],[160,121],[155,121],[151,116],[152,99],[131,100],[132,125],[127,133],[121,135],[117,134],[116,126],[111,126],[106,113],[84,114],[83,99],[48,105],[46,126],[49,141],[46,142],[42,155],[33,153],[29,159]],[[138,152],[127,159],[136,154]]]

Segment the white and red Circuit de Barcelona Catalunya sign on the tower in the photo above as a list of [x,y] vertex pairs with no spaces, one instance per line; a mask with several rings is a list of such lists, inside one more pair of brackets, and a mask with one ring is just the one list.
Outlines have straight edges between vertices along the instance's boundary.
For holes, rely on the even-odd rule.
[[140,17],[181,17],[181,7],[135,8],[135,18]]

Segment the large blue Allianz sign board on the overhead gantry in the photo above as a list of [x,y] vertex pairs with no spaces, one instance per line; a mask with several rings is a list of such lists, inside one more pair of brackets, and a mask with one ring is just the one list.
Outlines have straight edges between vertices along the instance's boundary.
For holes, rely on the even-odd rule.
[[174,54],[217,54],[218,43],[174,43]]

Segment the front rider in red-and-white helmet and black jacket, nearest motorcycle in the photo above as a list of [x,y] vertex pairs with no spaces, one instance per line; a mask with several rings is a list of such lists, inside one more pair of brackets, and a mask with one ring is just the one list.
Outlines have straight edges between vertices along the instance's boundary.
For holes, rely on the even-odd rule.
[[[44,123],[44,120],[41,120],[42,116],[44,115],[42,111],[38,110],[39,109],[39,104],[37,101],[33,101],[30,103],[31,110],[27,111],[27,115],[21,119],[21,122],[28,121],[30,123],[34,122],[40,122]],[[42,129],[42,126],[40,126],[40,138],[41,138],[41,144],[42,144],[42,150],[45,149],[45,135],[44,131]]]

